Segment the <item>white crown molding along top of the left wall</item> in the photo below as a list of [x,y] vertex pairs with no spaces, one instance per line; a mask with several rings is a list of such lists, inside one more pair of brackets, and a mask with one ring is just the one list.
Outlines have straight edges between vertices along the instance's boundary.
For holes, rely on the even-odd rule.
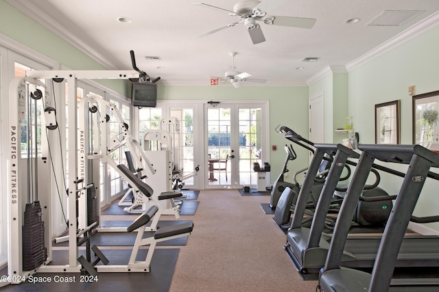
[[69,42],[69,44],[71,44],[73,47],[88,57],[91,57],[108,70],[117,69],[117,66],[110,62],[107,57],[93,49],[93,47],[89,46],[86,42],[84,42],[84,40],[75,34],[72,34],[69,29],[61,26],[60,23],[54,21],[53,18],[47,15],[41,6],[38,5],[38,1],[26,1],[26,3],[22,3],[20,0],[6,0],[6,2],[10,3],[10,5],[14,6],[14,8],[20,10],[40,25],[43,25],[45,28],[49,29],[49,31],[56,34],[56,36],[59,36],[63,40]]

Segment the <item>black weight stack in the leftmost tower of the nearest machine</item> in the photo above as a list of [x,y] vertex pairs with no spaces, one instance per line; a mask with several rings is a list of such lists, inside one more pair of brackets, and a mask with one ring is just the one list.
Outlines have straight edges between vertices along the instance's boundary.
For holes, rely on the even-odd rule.
[[26,204],[22,228],[23,271],[43,265],[47,259],[44,242],[44,222],[41,220],[40,202]]

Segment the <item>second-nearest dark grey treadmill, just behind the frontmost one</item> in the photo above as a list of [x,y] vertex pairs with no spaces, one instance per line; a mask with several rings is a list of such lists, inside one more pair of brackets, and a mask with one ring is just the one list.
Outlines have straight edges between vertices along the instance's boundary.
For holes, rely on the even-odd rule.
[[[364,147],[364,146],[362,146]],[[338,176],[335,175],[335,168],[337,164],[340,163],[353,163],[348,161],[348,158],[357,158],[359,155],[342,145],[337,145],[337,155],[335,155],[335,161],[331,165],[329,170],[329,175],[327,181],[325,182],[322,193],[318,200],[316,207],[316,214],[313,217],[311,228],[305,228],[300,226],[302,220],[302,215],[304,211],[304,202],[302,194],[299,193],[298,202],[296,204],[296,209],[294,211],[294,217],[292,226],[287,233],[287,245],[285,245],[285,250],[287,254],[292,259],[296,269],[300,272],[305,280],[316,280],[318,277],[318,272],[320,268],[324,266],[325,260],[327,258],[327,253],[330,246],[331,235],[323,233],[324,217],[327,215],[329,209],[329,204],[331,202],[332,194],[335,189],[336,182],[338,181]],[[364,148],[359,148],[363,150]],[[405,151],[405,152],[404,152]],[[392,162],[405,163],[410,161],[411,155],[407,154],[405,148],[399,148],[399,151],[393,151]],[[342,155],[343,154],[343,155]],[[364,155],[364,153],[362,154]],[[389,160],[390,161],[390,160]],[[312,162],[311,162],[312,163]],[[397,172],[391,170],[390,168],[385,168],[382,165],[377,165],[373,163],[365,163],[364,161],[357,164],[355,173],[357,176],[353,176],[351,184],[348,187],[348,192],[354,193],[357,196],[357,201],[355,202],[355,207],[353,207],[352,215],[346,217],[346,215],[338,214],[336,222],[343,218],[348,228],[351,228],[352,218],[355,213],[359,199],[361,200],[388,200],[388,205],[390,206],[389,211],[392,206],[392,199],[396,196],[381,196],[374,198],[363,198],[361,195],[364,186],[366,185],[366,180],[370,174],[372,168],[383,170],[385,172],[390,172],[398,176],[404,177],[405,174],[402,172]],[[358,177],[358,173],[361,173],[361,179]],[[305,189],[305,183],[302,188]],[[346,197],[344,198],[346,200]],[[383,201],[384,202],[384,201]],[[337,224],[337,223],[336,223]],[[348,229],[348,230],[349,230]],[[345,239],[343,245],[344,252],[342,253],[341,265],[344,267],[357,267],[357,268],[371,268],[374,265],[375,257],[379,248],[379,242],[381,240],[381,235],[353,235],[352,233]],[[407,236],[405,237],[400,254],[398,256],[398,261],[396,262],[397,267],[439,267],[439,237],[436,236]]]

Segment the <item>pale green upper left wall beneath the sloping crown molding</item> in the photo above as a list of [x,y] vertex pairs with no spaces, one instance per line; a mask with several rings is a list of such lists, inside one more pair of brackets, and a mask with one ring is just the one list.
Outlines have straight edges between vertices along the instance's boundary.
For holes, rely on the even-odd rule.
[[[106,69],[6,1],[0,1],[0,34],[50,59],[54,59],[72,70]],[[127,59],[129,57],[130,55],[127,52]],[[129,96],[129,82],[126,80],[97,80],[97,82],[123,96]]]

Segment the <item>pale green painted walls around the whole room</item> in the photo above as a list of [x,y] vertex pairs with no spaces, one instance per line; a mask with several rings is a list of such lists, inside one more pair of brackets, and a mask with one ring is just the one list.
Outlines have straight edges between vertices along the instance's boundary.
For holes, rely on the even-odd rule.
[[[0,34],[16,40],[73,70],[102,70],[102,65],[75,49],[45,27],[28,18],[10,4],[0,1]],[[285,159],[282,145],[287,141],[274,128],[286,125],[307,137],[308,98],[324,92],[325,142],[337,143],[342,137],[334,134],[344,127],[346,116],[353,118],[353,127],[360,134],[361,143],[374,143],[374,105],[401,99],[401,143],[412,143],[412,99],[407,95],[409,85],[416,85],[416,93],[438,90],[439,80],[439,29],[404,44],[374,59],[360,68],[330,75],[307,86],[298,87],[191,87],[161,86],[160,99],[210,100],[269,100],[270,145],[277,151],[270,153],[272,182]],[[121,81],[103,81],[104,85],[120,94],[129,95],[129,85]],[[348,92],[348,96],[346,96]],[[347,99],[347,100],[346,100]],[[344,102],[345,101],[345,102]],[[348,107],[348,112],[346,111]],[[340,124],[341,123],[341,124]],[[308,155],[298,150],[298,160],[289,168],[294,172],[308,163]],[[401,185],[399,178],[385,178],[383,187],[389,192]],[[436,199],[437,182],[428,181],[416,207],[415,215],[435,215],[439,209]],[[427,224],[439,230],[439,224]]]

